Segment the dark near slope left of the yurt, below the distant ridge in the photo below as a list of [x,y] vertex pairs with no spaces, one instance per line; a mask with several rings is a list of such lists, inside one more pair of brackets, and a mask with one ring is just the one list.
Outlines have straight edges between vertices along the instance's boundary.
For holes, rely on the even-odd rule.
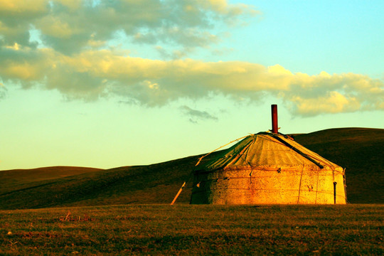
[[[149,166],[97,170],[32,181],[0,193],[0,208],[43,208],[122,203],[170,203],[197,156]],[[33,170],[31,170],[33,171]],[[0,186],[2,172],[0,171]],[[35,180],[36,178],[32,178]],[[181,198],[188,201],[186,194]]]

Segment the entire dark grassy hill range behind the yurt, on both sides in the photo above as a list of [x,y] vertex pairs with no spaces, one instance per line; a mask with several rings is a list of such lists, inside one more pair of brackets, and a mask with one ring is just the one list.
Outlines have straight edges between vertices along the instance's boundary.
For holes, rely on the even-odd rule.
[[[346,168],[350,203],[384,203],[384,129],[327,129],[295,139]],[[57,166],[0,171],[0,208],[170,203],[198,157],[107,170]],[[191,185],[177,203],[189,203]]]

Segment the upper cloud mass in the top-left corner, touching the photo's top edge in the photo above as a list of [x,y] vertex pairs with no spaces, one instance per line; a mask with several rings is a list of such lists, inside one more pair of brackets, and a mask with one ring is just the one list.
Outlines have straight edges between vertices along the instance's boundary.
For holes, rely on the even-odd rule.
[[[227,1],[38,0],[0,1],[0,35],[7,45],[31,46],[28,30],[41,31],[46,46],[61,53],[78,53],[95,42],[114,39],[123,31],[131,43],[179,48],[206,47],[218,43],[216,24],[254,15],[252,6]],[[233,9],[240,11],[233,13]],[[97,45],[97,44],[96,44]]]

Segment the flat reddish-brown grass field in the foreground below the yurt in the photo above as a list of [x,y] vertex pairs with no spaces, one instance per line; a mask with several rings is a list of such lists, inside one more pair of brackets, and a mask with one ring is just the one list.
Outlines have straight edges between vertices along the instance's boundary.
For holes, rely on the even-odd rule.
[[0,210],[0,255],[383,255],[383,205]]

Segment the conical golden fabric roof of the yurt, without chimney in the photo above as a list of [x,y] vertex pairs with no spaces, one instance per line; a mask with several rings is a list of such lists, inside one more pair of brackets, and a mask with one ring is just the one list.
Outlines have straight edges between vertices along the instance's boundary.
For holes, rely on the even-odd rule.
[[313,166],[316,169],[323,169],[324,166],[340,168],[287,135],[269,132],[247,136],[229,149],[215,154],[212,159],[208,156],[206,158],[200,166],[196,166],[197,171],[298,165]]

